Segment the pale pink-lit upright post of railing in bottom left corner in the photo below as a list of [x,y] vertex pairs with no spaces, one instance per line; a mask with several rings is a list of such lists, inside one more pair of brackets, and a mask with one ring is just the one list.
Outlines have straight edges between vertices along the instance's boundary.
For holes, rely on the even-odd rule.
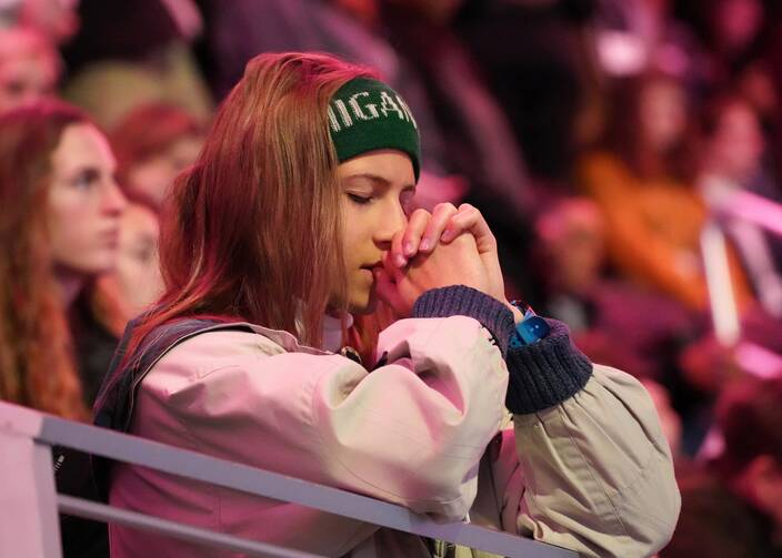
[[51,448],[0,424],[0,556],[60,558]]

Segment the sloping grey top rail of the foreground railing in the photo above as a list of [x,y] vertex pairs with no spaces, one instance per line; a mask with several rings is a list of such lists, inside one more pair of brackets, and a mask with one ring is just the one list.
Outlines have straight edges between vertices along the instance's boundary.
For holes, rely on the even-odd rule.
[[435,524],[409,509],[337,488],[308,483],[247,465],[112,430],[38,414],[0,402],[0,423],[19,417],[42,417],[40,428],[18,420],[20,428],[46,445],[62,445],[119,461],[150,467],[196,480],[233,488],[281,501],[290,501],[331,514],[424,537],[447,540],[510,558],[575,558],[571,550],[532,539],[498,532],[470,524]]

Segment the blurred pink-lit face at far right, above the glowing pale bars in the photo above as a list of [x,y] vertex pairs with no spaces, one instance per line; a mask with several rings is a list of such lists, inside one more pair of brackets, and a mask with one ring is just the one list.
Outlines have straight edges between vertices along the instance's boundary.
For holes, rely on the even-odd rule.
[[706,142],[708,165],[711,170],[742,181],[758,172],[765,140],[752,108],[732,102],[718,118],[716,128]]

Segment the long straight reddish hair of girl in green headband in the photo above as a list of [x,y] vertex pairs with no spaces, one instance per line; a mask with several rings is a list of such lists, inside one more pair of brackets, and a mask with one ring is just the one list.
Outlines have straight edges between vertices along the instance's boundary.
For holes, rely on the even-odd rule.
[[199,160],[174,181],[160,243],[166,291],[128,354],[157,326],[196,315],[321,345],[329,301],[345,290],[327,109],[358,77],[375,74],[327,54],[268,53],[248,63]]

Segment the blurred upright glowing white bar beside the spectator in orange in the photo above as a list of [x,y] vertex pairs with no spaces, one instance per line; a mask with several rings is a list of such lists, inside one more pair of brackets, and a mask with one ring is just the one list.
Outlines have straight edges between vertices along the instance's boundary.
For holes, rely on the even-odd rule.
[[726,347],[739,342],[741,326],[728,264],[725,236],[714,222],[701,232],[701,253],[709,288],[711,317],[716,339]]

